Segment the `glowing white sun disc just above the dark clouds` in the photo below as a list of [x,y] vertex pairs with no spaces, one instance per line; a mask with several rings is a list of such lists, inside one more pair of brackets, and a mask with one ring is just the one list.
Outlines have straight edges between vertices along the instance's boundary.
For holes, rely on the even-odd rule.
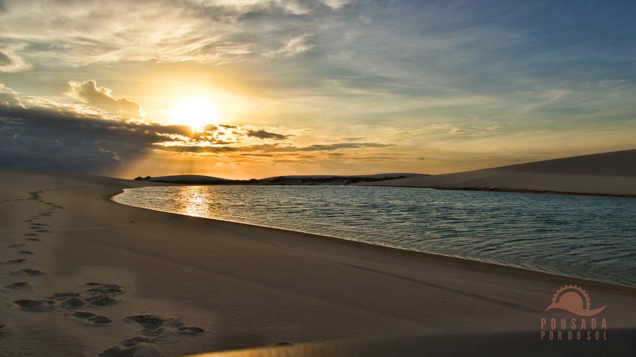
[[174,124],[188,125],[195,131],[214,124],[219,119],[218,109],[205,98],[184,99],[174,109],[165,112],[170,115]]

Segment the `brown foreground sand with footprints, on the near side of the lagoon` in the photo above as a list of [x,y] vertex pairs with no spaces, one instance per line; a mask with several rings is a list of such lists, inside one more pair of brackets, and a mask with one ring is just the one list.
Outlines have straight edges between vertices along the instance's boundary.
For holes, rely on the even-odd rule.
[[614,329],[636,327],[632,288],[110,200],[149,182],[29,170],[0,179],[1,356],[183,356],[458,333],[509,345],[501,333],[539,340],[541,318],[570,316],[544,311],[565,284],[607,306],[614,340],[595,343],[617,347]]

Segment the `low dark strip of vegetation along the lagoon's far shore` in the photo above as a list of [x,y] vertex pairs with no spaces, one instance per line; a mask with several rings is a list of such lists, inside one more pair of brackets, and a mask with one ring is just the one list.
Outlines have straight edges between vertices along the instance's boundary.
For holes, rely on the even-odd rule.
[[404,179],[407,176],[398,177],[275,177],[274,179],[249,179],[249,180],[153,180],[152,177],[135,177],[137,181],[163,182],[166,184],[184,185],[348,185],[357,182],[375,182],[383,180]]

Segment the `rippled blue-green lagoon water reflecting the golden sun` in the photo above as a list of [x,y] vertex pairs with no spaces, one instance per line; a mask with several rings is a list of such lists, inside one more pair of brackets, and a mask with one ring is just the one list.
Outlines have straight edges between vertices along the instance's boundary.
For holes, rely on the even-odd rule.
[[169,186],[127,189],[114,199],[636,286],[632,198],[406,187]]

